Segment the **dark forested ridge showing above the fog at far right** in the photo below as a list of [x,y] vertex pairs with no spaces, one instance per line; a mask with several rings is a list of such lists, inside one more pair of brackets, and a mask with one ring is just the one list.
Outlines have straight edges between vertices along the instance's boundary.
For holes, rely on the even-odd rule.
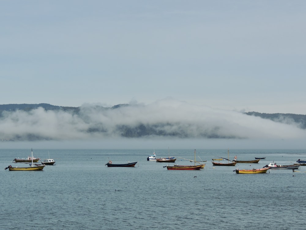
[[282,123],[298,123],[300,128],[306,129],[306,115],[303,114],[293,114],[293,113],[258,113],[258,112],[247,112],[247,115],[261,117],[264,119],[269,119],[275,122]]

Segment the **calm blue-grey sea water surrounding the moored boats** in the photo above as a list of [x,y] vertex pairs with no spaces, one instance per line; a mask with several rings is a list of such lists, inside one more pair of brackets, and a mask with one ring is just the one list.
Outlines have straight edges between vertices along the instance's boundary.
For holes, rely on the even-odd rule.
[[[200,171],[167,170],[166,163],[147,161],[153,152],[148,149],[33,149],[41,159],[48,152],[54,166],[9,171],[4,168],[20,165],[12,160],[31,155],[31,149],[0,149],[0,229],[306,229],[306,166],[295,173],[233,172],[272,161],[293,164],[306,160],[306,150],[230,150],[230,159],[266,159],[220,167],[211,159],[227,158],[227,149],[199,149],[197,160],[207,160]],[[184,165],[192,163],[178,157],[194,159],[193,149],[155,152]],[[109,160],[138,163],[107,167]]]

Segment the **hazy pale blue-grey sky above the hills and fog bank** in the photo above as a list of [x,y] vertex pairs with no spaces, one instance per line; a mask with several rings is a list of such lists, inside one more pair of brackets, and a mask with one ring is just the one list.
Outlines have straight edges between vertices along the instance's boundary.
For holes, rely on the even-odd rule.
[[0,1],[0,104],[306,114],[306,1]]

